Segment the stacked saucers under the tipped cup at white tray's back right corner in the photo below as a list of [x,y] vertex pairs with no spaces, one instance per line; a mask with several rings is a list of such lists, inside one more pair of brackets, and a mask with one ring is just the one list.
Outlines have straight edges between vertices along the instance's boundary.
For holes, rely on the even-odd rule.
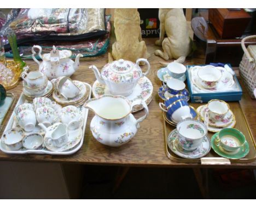
[[73,99],[67,100],[65,99],[65,97],[57,93],[57,91],[53,91],[53,99],[61,106],[80,106],[83,105],[86,100],[88,100],[90,94],[90,87],[88,86],[88,84],[77,80],[74,80],[73,83],[80,89],[79,94]]

